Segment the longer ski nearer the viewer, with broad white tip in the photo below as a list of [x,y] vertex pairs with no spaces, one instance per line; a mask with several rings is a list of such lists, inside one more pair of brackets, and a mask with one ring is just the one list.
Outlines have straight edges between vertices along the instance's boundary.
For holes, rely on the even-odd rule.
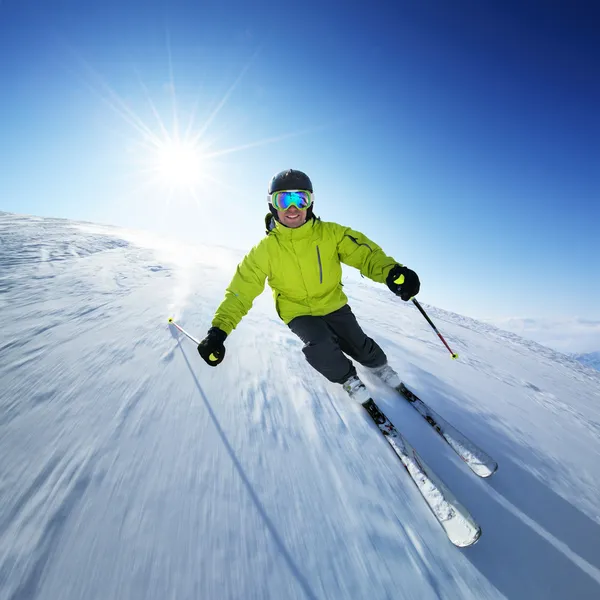
[[423,462],[408,440],[394,427],[372,399],[367,400],[363,406],[402,461],[448,539],[460,548],[474,544],[481,536],[481,528],[469,511]]

